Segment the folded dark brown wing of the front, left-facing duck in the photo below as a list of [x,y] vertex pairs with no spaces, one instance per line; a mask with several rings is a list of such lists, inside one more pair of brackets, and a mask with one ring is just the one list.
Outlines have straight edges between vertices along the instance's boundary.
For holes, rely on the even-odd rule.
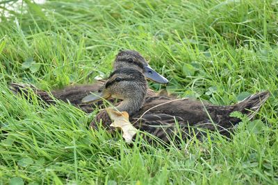
[[[219,131],[229,136],[233,125],[229,120],[228,107],[208,105],[201,101],[173,99],[165,96],[149,97],[138,114],[131,116],[138,129],[158,136],[163,141],[168,141],[169,136],[179,134],[181,139],[188,136],[202,138],[207,131]],[[227,120],[220,124],[225,117]]]

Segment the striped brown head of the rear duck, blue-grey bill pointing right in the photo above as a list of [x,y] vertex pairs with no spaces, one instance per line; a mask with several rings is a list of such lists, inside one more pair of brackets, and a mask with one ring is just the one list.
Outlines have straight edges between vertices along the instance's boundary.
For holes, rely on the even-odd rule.
[[149,64],[145,60],[145,58],[140,55],[137,51],[131,51],[131,50],[125,50],[120,51],[115,59],[115,62],[113,64],[114,71],[117,69],[122,69],[124,67],[130,67],[133,69],[137,69],[146,78],[149,78],[149,80],[153,80],[154,82],[158,82],[161,84],[166,84],[168,80],[161,76],[159,73],[154,71],[151,67],[149,67]]

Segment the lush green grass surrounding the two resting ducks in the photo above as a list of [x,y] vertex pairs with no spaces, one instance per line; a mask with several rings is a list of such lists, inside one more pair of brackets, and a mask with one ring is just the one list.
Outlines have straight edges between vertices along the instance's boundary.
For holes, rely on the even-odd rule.
[[[0,3],[0,184],[277,184],[277,1],[47,1]],[[13,3],[13,1],[9,2]],[[169,148],[126,146],[67,103],[41,106],[9,82],[45,90],[90,83],[135,49],[180,97],[231,105],[269,90],[229,139]],[[180,149],[179,149],[180,148]]]

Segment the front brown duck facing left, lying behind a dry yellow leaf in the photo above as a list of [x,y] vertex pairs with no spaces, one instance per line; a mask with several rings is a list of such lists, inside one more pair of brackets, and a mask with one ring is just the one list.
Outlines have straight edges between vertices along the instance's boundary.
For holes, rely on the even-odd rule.
[[[140,132],[147,133],[147,141],[153,142],[152,136],[155,136],[163,143],[170,143],[173,138],[186,141],[193,134],[197,139],[204,139],[207,131],[229,136],[241,121],[231,116],[232,112],[240,112],[252,119],[270,96],[269,91],[263,91],[234,105],[220,106],[189,98],[147,96],[147,89],[147,81],[140,71],[122,68],[113,71],[101,91],[90,98],[92,101],[109,97],[122,100],[113,109],[127,112],[130,123]],[[104,127],[113,132],[111,123],[106,109],[102,109],[90,127]]]

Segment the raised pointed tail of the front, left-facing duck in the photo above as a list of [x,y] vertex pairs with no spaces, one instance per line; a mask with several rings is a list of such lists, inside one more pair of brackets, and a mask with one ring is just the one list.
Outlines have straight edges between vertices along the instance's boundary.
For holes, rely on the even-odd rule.
[[238,105],[238,110],[243,114],[246,114],[250,120],[256,115],[256,113],[261,108],[261,105],[268,100],[270,96],[269,91],[263,91],[251,96],[248,96],[244,100],[240,101]]

